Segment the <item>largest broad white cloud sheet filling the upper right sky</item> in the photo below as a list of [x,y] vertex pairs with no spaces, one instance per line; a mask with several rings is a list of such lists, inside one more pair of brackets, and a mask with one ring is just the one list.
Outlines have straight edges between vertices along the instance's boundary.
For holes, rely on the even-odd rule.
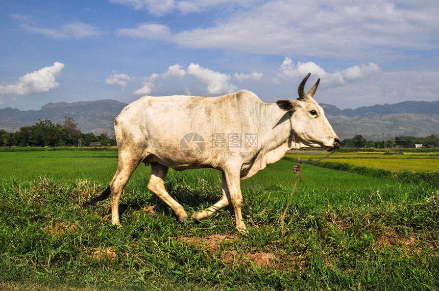
[[[252,51],[259,54],[370,57],[395,49],[436,49],[439,3],[374,4],[273,0],[235,9],[208,27],[177,33],[185,47]],[[382,53],[381,53],[382,52]],[[365,55],[367,53],[367,55]]]

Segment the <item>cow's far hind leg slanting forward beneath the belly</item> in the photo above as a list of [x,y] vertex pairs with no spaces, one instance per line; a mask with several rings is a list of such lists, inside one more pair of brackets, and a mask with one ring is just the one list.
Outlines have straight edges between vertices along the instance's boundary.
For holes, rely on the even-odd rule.
[[167,205],[174,209],[175,214],[178,216],[178,220],[181,222],[188,222],[187,214],[183,207],[175,201],[174,198],[170,197],[164,187],[164,179],[166,178],[168,167],[159,164],[151,164],[151,179],[148,183],[148,189],[154,192],[158,197],[160,197]]

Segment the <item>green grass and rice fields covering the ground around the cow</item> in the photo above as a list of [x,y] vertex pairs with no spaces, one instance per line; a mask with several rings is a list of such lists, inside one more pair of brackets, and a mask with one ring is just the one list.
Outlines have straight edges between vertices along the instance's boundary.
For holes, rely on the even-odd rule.
[[[116,149],[14,150],[0,149],[2,290],[439,289],[437,150],[337,152],[305,163],[292,196],[288,153],[241,181],[247,233],[231,207],[179,223],[143,165],[114,227],[109,199],[82,203],[108,186]],[[220,177],[170,170],[165,184],[190,216],[220,199]]]

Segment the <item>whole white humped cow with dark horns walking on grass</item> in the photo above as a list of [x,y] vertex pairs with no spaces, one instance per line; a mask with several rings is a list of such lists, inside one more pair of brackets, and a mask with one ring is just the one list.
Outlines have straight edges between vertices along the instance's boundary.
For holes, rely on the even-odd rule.
[[331,150],[340,143],[312,98],[320,79],[304,92],[309,76],[299,86],[299,98],[273,104],[249,91],[220,97],[144,96],[132,102],[114,120],[119,156],[116,174],[110,186],[84,206],[111,194],[111,222],[118,225],[121,192],[143,162],[151,165],[148,189],[172,207],[181,222],[188,222],[183,207],[164,187],[168,168],[213,168],[222,172],[223,197],[191,218],[209,217],[231,203],[237,229],[245,230],[240,179],[279,161],[291,148]]

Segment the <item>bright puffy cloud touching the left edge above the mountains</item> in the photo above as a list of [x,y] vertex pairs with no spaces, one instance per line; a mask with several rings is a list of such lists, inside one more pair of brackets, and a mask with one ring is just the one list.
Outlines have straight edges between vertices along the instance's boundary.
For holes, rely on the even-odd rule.
[[63,68],[63,63],[55,62],[51,67],[27,73],[14,84],[0,85],[0,94],[21,96],[48,92],[59,86],[55,78],[61,74]]

